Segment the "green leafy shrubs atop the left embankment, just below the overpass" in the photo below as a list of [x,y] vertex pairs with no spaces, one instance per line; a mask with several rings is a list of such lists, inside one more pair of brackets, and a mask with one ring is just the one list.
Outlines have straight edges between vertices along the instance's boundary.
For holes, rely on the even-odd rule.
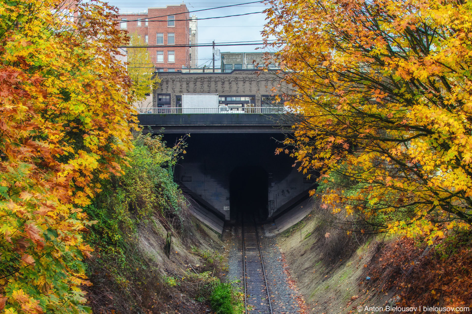
[[167,148],[162,137],[139,135],[123,165],[125,173],[101,182],[102,190],[86,207],[91,227],[89,240],[115,254],[122,254],[139,223],[148,223],[155,212],[179,214],[182,195],[174,182],[173,166],[183,151],[181,142]]

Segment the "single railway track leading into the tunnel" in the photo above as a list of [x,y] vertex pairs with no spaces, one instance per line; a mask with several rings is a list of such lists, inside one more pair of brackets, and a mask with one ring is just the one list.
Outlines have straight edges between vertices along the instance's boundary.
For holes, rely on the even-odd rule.
[[255,223],[242,222],[245,313],[272,314],[266,270]]

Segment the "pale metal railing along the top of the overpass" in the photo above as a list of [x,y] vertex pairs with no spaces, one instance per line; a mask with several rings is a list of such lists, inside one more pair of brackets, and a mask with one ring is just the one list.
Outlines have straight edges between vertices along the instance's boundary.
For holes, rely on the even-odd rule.
[[186,114],[186,113],[286,113],[284,107],[246,107],[246,108],[228,108],[228,107],[203,107],[203,108],[136,108],[140,114]]

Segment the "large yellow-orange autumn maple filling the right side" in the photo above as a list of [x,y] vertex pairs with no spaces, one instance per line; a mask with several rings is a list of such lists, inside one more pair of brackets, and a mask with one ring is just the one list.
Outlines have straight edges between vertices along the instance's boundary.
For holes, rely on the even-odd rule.
[[[472,223],[472,2],[272,0],[300,170],[377,232]],[[282,151],[282,150],[280,150]],[[349,188],[349,192],[347,191]]]

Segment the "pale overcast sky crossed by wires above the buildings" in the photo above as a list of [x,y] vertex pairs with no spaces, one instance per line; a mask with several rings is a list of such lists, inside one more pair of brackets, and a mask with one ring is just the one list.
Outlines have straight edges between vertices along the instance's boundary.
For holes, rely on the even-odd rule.
[[[169,4],[185,3],[189,11],[201,10],[225,5],[238,3],[253,2],[255,0],[239,0],[239,1],[158,1],[158,0],[108,0],[111,5],[117,6],[120,13],[143,12],[148,7],[165,7]],[[264,3],[253,3],[238,5],[228,8],[207,10],[201,12],[190,12],[190,16],[195,14],[197,18],[209,18],[226,15],[236,15],[251,12],[261,12],[266,8]],[[198,43],[205,44],[240,41],[260,41],[262,40],[261,31],[265,24],[265,14],[251,14],[239,17],[229,17],[222,19],[201,20],[198,22]],[[218,47],[221,52],[261,52],[256,50],[258,46],[227,46]],[[211,47],[199,47],[198,64],[211,66]],[[215,59],[216,60],[216,59]],[[215,61],[215,67],[219,67],[220,61]]]

